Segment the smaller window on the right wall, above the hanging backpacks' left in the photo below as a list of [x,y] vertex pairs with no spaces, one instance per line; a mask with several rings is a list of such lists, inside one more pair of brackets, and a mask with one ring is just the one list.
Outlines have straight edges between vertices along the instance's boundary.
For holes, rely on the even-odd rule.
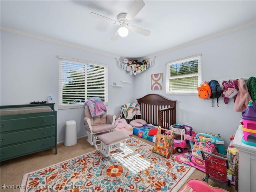
[[166,64],[166,94],[197,94],[201,81],[201,54]]

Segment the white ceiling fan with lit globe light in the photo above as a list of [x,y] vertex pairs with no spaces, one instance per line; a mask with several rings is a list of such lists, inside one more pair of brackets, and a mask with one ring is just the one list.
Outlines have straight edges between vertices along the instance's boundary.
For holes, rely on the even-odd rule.
[[111,40],[117,40],[119,36],[126,37],[129,33],[129,30],[132,31],[132,32],[142,34],[144,36],[149,36],[150,33],[151,33],[149,30],[129,25],[129,23],[132,21],[132,19],[144,7],[144,5],[145,5],[145,3],[142,0],[135,0],[133,2],[132,6],[130,7],[130,10],[128,11],[127,14],[126,13],[120,13],[117,16],[117,21],[113,20],[113,19],[110,19],[110,18],[107,18],[107,17],[102,16],[102,15],[93,13],[93,12],[90,13],[90,16],[92,16],[94,18],[101,19],[103,21],[111,22],[112,24],[116,24],[116,25],[120,26],[120,28],[118,28],[118,30],[116,31],[114,36],[112,36]]

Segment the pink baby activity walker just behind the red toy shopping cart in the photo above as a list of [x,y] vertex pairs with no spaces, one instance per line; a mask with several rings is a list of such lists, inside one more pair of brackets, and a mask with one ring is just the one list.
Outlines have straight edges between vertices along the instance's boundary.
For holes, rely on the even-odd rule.
[[[206,138],[211,137],[212,142],[209,142]],[[206,151],[208,153],[211,153],[215,150],[215,138],[205,134],[205,133],[198,133],[196,134],[195,143],[193,145],[193,149],[191,152],[191,155],[189,157],[190,162],[193,162],[196,166],[199,166],[203,169],[205,169],[205,161],[202,157],[201,151]]]

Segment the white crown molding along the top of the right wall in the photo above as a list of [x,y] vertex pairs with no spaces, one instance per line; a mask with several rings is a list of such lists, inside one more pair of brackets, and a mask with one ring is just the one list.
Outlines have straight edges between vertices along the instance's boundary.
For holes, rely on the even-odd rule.
[[217,33],[208,35],[208,36],[204,36],[202,38],[198,38],[196,40],[192,40],[190,42],[187,42],[187,43],[184,43],[184,44],[180,44],[178,46],[174,46],[174,47],[172,47],[170,49],[166,49],[166,50],[157,52],[155,54],[145,56],[143,58],[140,58],[140,60],[151,58],[151,57],[156,57],[156,56],[159,56],[159,55],[162,55],[162,54],[166,54],[166,53],[169,53],[169,52],[181,49],[181,48],[185,48],[185,47],[188,47],[188,46],[192,46],[194,44],[198,44],[198,43],[201,43],[201,42],[204,42],[204,41],[208,41],[208,40],[211,40],[211,39],[214,39],[214,38],[218,38],[220,36],[224,36],[226,34],[230,34],[230,33],[233,33],[233,32],[239,31],[239,30],[243,30],[243,29],[255,26],[255,25],[256,25],[256,20],[253,20],[253,21],[250,21],[250,22],[247,22],[247,23],[235,26],[235,27],[230,28],[228,30],[224,30],[224,31],[221,31],[221,32],[217,32]]

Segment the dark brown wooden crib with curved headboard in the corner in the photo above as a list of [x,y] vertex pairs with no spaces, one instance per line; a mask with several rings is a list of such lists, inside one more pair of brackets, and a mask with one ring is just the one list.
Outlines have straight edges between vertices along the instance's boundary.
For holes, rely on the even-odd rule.
[[[176,100],[170,100],[158,94],[148,94],[137,99],[140,104],[140,116],[134,116],[131,120],[141,118],[148,124],[170,129],[170,125],[176,124]],[[124,118],[124,114],[122,114]],[[126,120],[128,123],[131,120]]]

